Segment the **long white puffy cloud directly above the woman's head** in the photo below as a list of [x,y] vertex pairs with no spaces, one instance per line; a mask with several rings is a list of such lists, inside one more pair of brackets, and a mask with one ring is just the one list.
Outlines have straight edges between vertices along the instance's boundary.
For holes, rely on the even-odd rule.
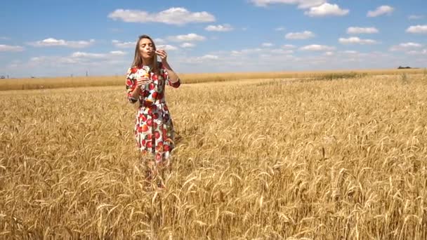
[[124,22],[162,22],[169,25],[185,25],[190,22],[215,22],[211,13],[192,13],[185,8],[169,8],[159,13],[138,10],[117,9],[108,15],[113,20]]

